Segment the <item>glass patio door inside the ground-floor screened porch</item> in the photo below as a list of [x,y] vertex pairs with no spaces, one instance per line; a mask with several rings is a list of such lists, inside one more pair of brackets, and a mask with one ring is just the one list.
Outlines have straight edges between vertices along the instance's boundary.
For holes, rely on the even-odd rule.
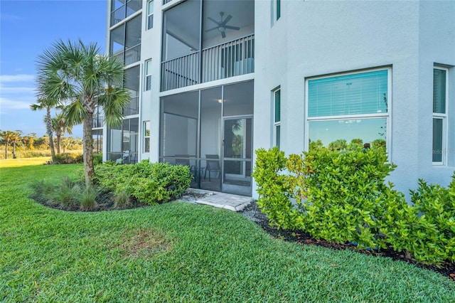
[[252,116],[223,119],[222,190],[250,196],[252,191]]

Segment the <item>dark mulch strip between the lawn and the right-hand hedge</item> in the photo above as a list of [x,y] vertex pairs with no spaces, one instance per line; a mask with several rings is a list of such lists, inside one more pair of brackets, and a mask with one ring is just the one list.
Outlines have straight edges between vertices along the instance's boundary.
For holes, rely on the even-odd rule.
[[333,250],[355,250],[356,252],[363,253],[365,255],[373,255],[375,257],[390,257],[393,260],[400,260],[417,267],[439,272],[441,275],[449,277],[452,281],[455,282],[455,263],[446,262],[441,265],[441,267],[436,267],[434,265],[424,265],[418,263],[414,259],[408,259],[405,257],[404,252],[396,252],[390,248],[386,250],[359,250],[355,247],[355,245],[352,244],[337,244],[328,242],[326,240],[315,239],[303,230],[277,230],[275,226],[269,225],[267,216],[261,213],[257,207],[257,204],[254,202],[250,203],[250,205],[245,207],[240,213],[252,219],[255,223],[261,226],[263,230],[269,233],[269,235],[272,235],[274,238],[280,238],[288,242],[296,242],[301,245],[319,245],[325,248],[331,248]]

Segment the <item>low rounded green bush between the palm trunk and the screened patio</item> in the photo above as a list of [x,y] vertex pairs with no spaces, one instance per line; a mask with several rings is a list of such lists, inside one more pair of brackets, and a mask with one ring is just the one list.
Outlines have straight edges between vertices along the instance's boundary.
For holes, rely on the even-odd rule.
[[112,165],[102,164],[95,169],[95,181],[104,191],[130,193],[137,201],[149,205],[180,197],[193,178],[187,166],[167,163]]

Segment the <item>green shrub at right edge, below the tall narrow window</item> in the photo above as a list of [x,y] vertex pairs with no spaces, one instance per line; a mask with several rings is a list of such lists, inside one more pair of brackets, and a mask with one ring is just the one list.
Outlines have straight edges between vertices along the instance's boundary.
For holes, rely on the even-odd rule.
[[411,200],[414,212],[407,249],[424,263],[455,262],[455,174],[447,188],[420,179]]

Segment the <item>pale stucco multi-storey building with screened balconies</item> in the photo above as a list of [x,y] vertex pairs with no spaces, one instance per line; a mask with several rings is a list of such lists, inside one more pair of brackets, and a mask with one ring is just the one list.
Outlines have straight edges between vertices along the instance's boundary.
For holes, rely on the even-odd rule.
[[455,1],[112,0],[107,14],[132,102],[121,127],[94,121],[105,160],[184,164],[193,187],[254,197],[254,151],[275,145],[385,143],[404,192],[454,173]]

